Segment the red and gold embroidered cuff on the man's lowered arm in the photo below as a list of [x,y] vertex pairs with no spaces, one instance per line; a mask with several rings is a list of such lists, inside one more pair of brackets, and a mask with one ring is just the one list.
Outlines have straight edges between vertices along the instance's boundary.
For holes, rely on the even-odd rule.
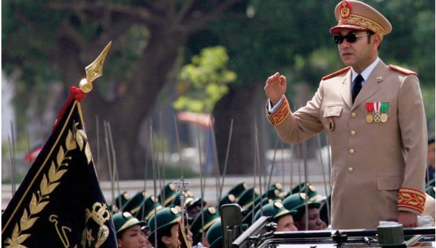
[[426,194],[415,188],[401,187],[398,196],[398,207],[414,209],[422,213],[426,204]]

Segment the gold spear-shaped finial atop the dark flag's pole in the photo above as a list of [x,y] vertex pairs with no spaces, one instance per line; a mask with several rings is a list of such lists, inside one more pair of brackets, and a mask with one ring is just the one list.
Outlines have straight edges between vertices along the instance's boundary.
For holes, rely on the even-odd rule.
[[90,65],[85,67],[86,78],[83,78],[79,83],[79,87],[85,93],[89,93],[92,91],[92,81],[99,78],[103,75],[103,64],[106,59],[106,55],[108,55],[108,51],[112,42],[109,42],[103,51],[100,53],[99,57],[94,60]]

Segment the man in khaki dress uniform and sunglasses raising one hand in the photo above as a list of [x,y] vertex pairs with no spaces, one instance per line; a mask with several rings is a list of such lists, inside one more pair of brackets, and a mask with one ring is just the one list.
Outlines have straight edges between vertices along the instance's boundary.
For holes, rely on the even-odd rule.
[[326,130],[332,150],[333,229],[376,228],[380,220],[416,227],[424,209],[427,128],[417,73],[378,57],[392,30],[377,10],[340,2],[330,29],[346,68],[322,78],[291,113],[286,78],[267,79],[267,117],[280,139],[301,143]]

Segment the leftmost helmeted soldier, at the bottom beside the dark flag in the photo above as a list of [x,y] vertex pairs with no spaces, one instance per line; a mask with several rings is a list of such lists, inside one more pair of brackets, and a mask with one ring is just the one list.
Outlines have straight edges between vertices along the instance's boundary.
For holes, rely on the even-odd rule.
[[141,227],[144,227],[146,222],[137,220],[128,212],[115,213],[112,219],[119,248],[151,247],[141,231]]

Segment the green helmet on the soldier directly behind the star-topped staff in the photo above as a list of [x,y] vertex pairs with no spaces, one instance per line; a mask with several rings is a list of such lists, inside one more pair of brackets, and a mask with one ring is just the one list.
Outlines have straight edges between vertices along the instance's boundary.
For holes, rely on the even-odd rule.
[[[178,207],[167,207],[165,209],[162,209],[158,212],[156,212],[156,215],[152,215],[149,220],[149,229],[151,231],[149,236],[149,241],[154,244],[154,236],[158,235],[158,240],[160,239],[159,233],[162,233],[168,229],[171,229],[171,227],[174,226],[174,224],[178,224],[178,222],[181,220],[181,209]],[[156,221],[157,219],[157,221]],[[156,222],[156,229],[154,227]]]

